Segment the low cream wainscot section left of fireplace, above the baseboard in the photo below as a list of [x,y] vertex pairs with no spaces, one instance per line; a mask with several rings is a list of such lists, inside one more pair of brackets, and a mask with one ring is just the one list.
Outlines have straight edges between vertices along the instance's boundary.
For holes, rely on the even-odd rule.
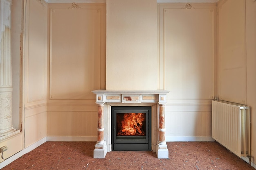
[[[47,137],[97,137],[98,112],[94,105],[49,105]],[[75,108],[75,109],[74,109]],[[75,140],[75,139],[74,139]]]

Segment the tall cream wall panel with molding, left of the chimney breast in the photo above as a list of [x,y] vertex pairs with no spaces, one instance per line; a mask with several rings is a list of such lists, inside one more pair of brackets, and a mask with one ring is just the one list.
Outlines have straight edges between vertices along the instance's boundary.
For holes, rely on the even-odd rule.
[[[106,4],[61,4],[61,5],[56,5],[56,4],[51,4],[49,5],[49,16],[50,16],[50,67],[49,67],[49,99],[50,100],[94,100],[94,94],[92,94],[92,90],[94,89],[103,89],[105,88],[105,80],[106,80],[106,33],[105,33],[105,8]],[[63,12],[63,11],[66,11]],[[71,11],[69,11],[71,10]],[[76,39],[77,42],[81,41],[84,44],[81,44],[81,46],[86,46],[89,49],[94,49],[93,46],[96,46],[96,48],[99,48],[98,50],[83,50],[82,48],[79,48],[79,50],[67,50],[67,49],[58,49],[57,46],[57,40],[56,38],[54,39],[53,36],[56,36],[56,30],[54,32],[53,30],[53,15],[56,12],[61,12],[58,14],[55,14],[55,17],[58,17],[60,20],[62,18],[62,14],[65,13],[65,15],[68,16],[67,13],[72,13],[76,15],[85,15],[85,13],[94,13],[97,15],[97,20],[93,20],[92,28],[88,29],[94,29],[97,28],[97,31],[99,33],[95,33],[94,35],[90,34],[88,29],[81,30],[79,31],[74,31],[72,30],[68,31],[67,33],[64,32],[61,33],[63,34],[63,37],[65,41],[62,41],[63,44],[61,45],[67,45],[67,43],[70,43],[70,39],[72,41],[75,41],[73,38],[78,37],[79,39]],[[63,16],[65,17],[65,16]],[[77,17],[71,18],[69,17],[68,19],[65,20],[67,22],[66,24],[70,24],[70,21],[77,23],[80,21],[83,21],[83,24],[87,22],[92,22],[92,19],[90,19],[90,15],[85,15],[81,16],[82,18],[79,19]],[[86,20],[86,18],[88,20]],[[54,20],[57,20],[56,18]],[[55,24],[55,23],[54,23]],[[62,25],[65,25],[64,21],[61,23]],[[54,27],[58,28],[61,26],[61,24],[56,24]],[[56,29],[55,28],[55,29]],[[78,29],[79,27],[77,27]],[[70,27],[72,29],[72,26]],[[95,29],[94,29],[95,30]],[[82,32],[81,32],[82,31]],[[78,34],[83,34],[83,35],[78,35]],[[61,34],[58,33],[57,36],[60,36]],[[72,36],[74,34],[74,36]],[[82,39],[81,37],[86,37],[87,39]],[[57,37],[58,38],[58,37]],[[92,43],[90,44],[88,41],[89,39],[92,39]],[[69,40],[69,41],[67,41]],[[98,42],[97,42],[98,41]],[[66,44],[65,44],[66,43]],[[97,43],[97,44],[95,44]],[[54,48],[55,46],[56,48]],[[55,50],[55,51],[54,51]],[[58,53],[58,50],[63,51],[66,50],[68,54],[66,54],[65,57],[61,60],[61,56],[54,56]],[[53,54],[54,52],[54,54]],[[94,54],[91,54],[91,53]],[[72,53],[72,54],[71,54]],[[90,55],[88,54],[90,53]],[[74,62],[70,62],[71,59],[69,59],[68,55],[72,55],[72,57],[76,60],[73,60]],[[53,61],[53,59],[55,61]],[[64,60],[65,59],[65,60]],[[83,59],[83,61],[81,61]],[[69,62],[70,64],[67,65]],[[90,64],[90,63],[93,63]],[[65,64],[67,67],[64,68]],[[79,64],[79,65],[77,65]],[[69,72],[67,69],[70,69]],[[89,70],[91,69],[91,70]],[[81,74],[80,74],[81,73]],[[89,76],[91,74],[91,76]],[[57,76],[58,75],[58,76]],[[79,77],[80,75],[80,77]],[[72,78],[70,78],[72,77]],[[58,78],[58,80],[56,80]],[[65,81],[65,78],[73,79],[71,81]],[[58,88],[59,86],[59,88]],[[62,91],[60,91],[60,89]],[[63,93],[64,92],[64,93]]]

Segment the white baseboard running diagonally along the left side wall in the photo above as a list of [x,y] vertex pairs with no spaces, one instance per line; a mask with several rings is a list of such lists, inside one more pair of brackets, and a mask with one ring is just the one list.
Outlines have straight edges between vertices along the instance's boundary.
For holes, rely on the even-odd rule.
[[38,142],[28,146],[27,148],[24,148],[23,150],[21,150],[20,152],[14,154],[13,156],[11,156],[10,158],[2,161],[0,163],[0,169],[2,169],[4,166],[7,166],[9,163],[15,161],[16,159],[18,159],[19,157],[21,157],[22,155],[29,153],[31,150],[34,150],[35,148],[37,148],[38,146],[40,146],[41,144],[46,142],[46,137],[44,137],[43,139],[40,139]]

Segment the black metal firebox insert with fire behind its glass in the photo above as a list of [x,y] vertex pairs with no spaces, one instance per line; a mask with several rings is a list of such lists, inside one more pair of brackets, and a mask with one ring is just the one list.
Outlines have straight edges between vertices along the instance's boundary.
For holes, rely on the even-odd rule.
[[111,107],[112,150],[151,150],[151,107]]

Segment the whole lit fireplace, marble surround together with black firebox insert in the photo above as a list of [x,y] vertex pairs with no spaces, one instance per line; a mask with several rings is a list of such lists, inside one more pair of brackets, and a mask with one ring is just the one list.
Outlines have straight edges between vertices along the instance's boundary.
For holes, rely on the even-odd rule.
[[[168,158],[165,104],[169,91],[99,89],[92,92],[96,94],[98,104],[98,134],[94,158],[105,158],[107,152],[112,150],[153,150],[157,158]],[[129,127],[122,128],[120,124],[132,113],[146,118],[133,124],[133,133],[128,134],[126,131]]]

